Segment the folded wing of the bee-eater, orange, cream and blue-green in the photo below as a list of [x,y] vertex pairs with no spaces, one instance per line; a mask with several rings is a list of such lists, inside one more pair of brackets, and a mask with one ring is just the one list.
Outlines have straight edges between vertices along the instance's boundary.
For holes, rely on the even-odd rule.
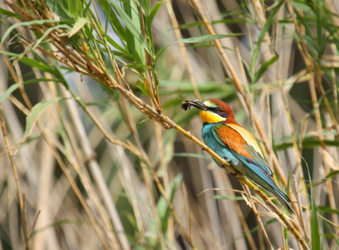
[[219,124],[212,131],[218,143],[232,149],[240,161],[247,165],[256,165],[272,175],[254,137],[245,128],[235,124]]

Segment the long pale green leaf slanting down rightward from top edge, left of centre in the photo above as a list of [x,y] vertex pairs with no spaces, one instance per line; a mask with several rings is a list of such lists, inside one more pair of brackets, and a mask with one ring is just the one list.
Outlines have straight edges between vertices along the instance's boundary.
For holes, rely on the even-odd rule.
[[113,6],[114,10],[118,13],[119,17],[122,19],[122,21],[125,24],[125,27],[133,34],[133,36],[143,45],[143,48],[153,56],[153,53],[151,49],[148,46],[148,43],[146,42],[145,38],[143,37],[143,34],[141,33],[141,30],[138,29],[131,18],[128,17],[128,15],[125,13],[123,8],[115,1],[115,0],[108,0],[110,4]]

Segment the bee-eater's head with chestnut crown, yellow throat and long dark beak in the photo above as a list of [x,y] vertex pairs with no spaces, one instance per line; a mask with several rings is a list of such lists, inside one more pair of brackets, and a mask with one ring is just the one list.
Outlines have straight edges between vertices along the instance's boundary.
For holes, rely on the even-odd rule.
[[190,101],[190,105],[200,109],[199,115],[203,124],[237,124],[231,107],[219,99],[210,98],[203,103],[193,100]]

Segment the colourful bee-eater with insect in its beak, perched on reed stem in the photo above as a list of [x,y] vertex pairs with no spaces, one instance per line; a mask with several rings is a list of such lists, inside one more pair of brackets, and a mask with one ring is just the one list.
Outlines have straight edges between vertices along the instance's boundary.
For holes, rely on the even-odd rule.
[[[289,204],[291,200],[273,181],[272,171],[260,147],[250,132],[235,121],[231,107],[215,98],[204,103],[197,100],[185,101],[182,107],[186,110],[191,105],[200,110],[203,123],[201,137],[205,144],[238,172],[272,192],[288,212],[294,214]],[[214,161],[221,167],[218,161]]]

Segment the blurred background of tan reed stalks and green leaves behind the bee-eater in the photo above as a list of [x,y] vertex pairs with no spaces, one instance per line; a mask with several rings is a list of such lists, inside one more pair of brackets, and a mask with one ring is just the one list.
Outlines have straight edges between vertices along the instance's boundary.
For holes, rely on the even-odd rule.
[[[45,2],[54,12],[50,18],[68,20],[59,29],[81,26],[75,33],[97,34],[89,18],[76,11],[88,7],[95,13],[111,39],[109,49],[122,78],[149,105],[154,102],[139,84],[137,67],[131,66],[138,60],[145,64],[145,55],[140,53],[143,49],[130,53],[128,37],[135,34],[125,33],[125,16],[118,7],[137,20],[139,28],[143,19],[138,7],[143,6],[145,13],[145,6],[153,8],[153,37],[147,36],[147,41],[159,55],[156,62],[153,57],[152,67],[159,80],[163,114],[201,140],[198,111],[194,107],[184,111],[182,99],[214,97],[227,102],[236,121],[261,146],[265,144],[269,166],[278,171],[275,180],[289,194],[294,208],[298,209],[300,199],[303,216],[290,216],[306,242],[317,241],[321,249],[338,248],[338,1],[201,0],[202,14],[215,33],[235,34],[220,42],[245,89],[241,94],[213,39],[206,36],[209,33],[195,1],[121,1],[116,7],[106,0],[77,0],[74,14],[72,1],[6,0],[0,3],[0,115],[4,124],[0,134],[0,250],[301,249],[273,213],[261,216],[271,245],[265,240],[238,179],[219,169],[199,146],[175,129],[148,119],[117,90],[46,54],[56,51],[51,40],[37,32],[47,30],[47,24],[19,25],[28,19],[10,8],[21,5],[34,15],[32,10],[43,8]],[[109,17],[114,14],[113,18],[107,18],[107,13]],[[68,40],[72,48],[86,48],[86,39],[92,44],[100,40],[97,35],[76,36]],[[181,47],[175,43],[190,37],[206,39],[186,40]],[[137,38],[132,40],[137,47]],[[102,50],[107,48],[104,42],[98,44]],[[120,46],[134,59],[141,59],[128,59],[117,49]],[[109,65],[108,55],[103,52],[103,57]],[[266,138],[254,125],[253,114]],[[142,161],[137,151],[149,161]],[[317,215],[312,220],[310,213],[313,198],[318,222]],[[263,206],[257,209],[267,212]],[[318,229],[318,223],[319,237],[311,238],[311,227]]]

